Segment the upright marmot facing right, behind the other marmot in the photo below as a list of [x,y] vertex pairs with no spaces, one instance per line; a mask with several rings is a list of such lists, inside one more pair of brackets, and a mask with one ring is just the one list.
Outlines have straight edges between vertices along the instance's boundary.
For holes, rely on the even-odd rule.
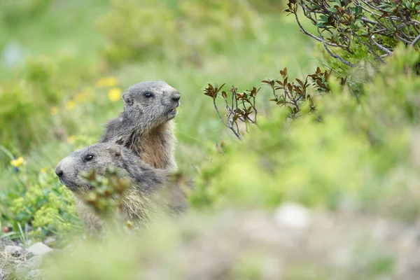
[[176,169],[172,119],[180,99],[164,81],[132,85],[123,93],[123,113],[108,123],[99,142],[125,146],[155,168]]

